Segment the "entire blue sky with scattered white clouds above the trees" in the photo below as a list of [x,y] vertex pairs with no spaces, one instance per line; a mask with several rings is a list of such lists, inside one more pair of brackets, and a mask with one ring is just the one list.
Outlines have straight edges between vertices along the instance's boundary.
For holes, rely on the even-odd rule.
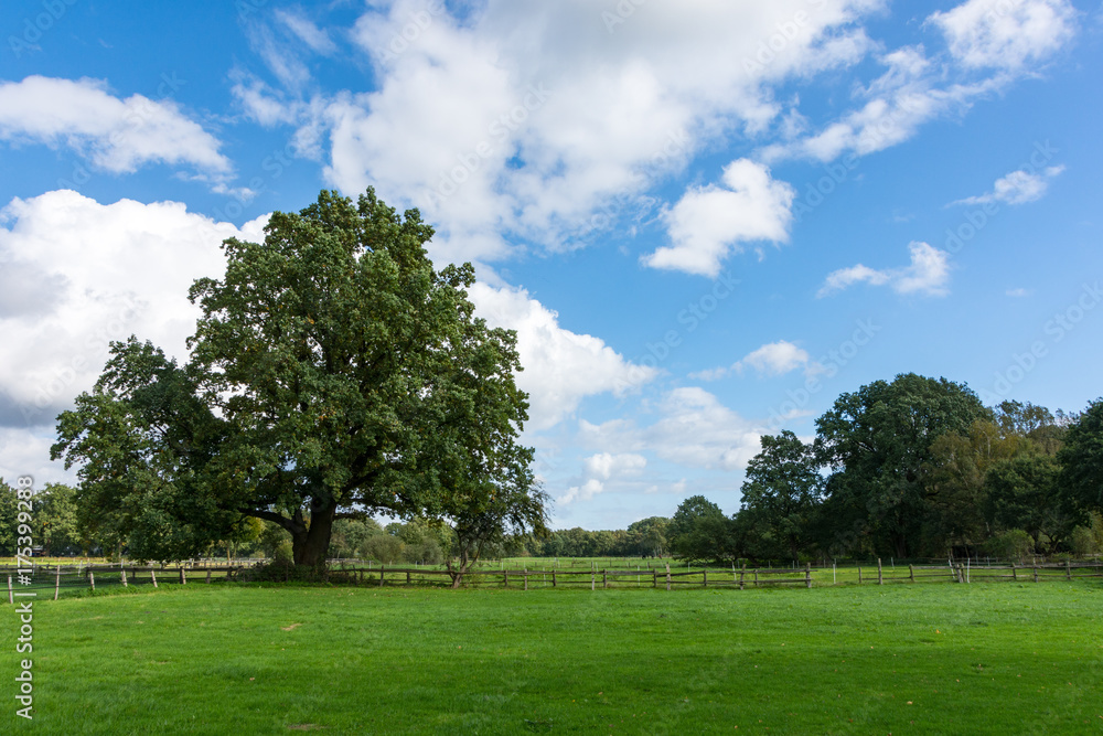
[[704,493],[901,372],[1103,394],[1097,0],[12,0],[0,476],[225,237],[374,185],[517,330],[559,526]]

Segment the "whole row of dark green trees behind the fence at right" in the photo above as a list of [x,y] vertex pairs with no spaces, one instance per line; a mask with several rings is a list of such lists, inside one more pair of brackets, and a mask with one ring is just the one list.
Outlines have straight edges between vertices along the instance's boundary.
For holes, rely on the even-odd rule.
[[804,441],[762,437],[739,510],[687,499],[671,547],[700,561],[1090,555],[1103,547],[1103,399],[1080,414],[915,374],[839,396]]

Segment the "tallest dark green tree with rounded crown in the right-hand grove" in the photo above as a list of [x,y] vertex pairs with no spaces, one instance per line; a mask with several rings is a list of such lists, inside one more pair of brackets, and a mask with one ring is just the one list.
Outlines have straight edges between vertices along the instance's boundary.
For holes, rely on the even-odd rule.
[[967,386],[914,373],[840,395],[816,419],[817,460],[833,471],[825,509],[834,543],[853,547],[866,536],[897,557],[914,554],[928,515],[923,468],[931,445],[989,417]]

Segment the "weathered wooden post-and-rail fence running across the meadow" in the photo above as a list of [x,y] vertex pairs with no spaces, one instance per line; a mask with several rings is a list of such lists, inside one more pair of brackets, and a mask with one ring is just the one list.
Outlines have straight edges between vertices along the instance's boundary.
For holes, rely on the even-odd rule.
[[[14,602],[15,591],[35,594],[44,598],[52,594],[56,600],[63,593],[77,589],[105,587],[130,587],[162,585],[210,584],[217,580],[236,580],[248,577],[249,564],[184,564],[174,567],[164,565],[34,565],[30,573],[14,566],[0,566],[0,576],[7,578],[8,601]],[[990,565],[974,567],[966,563],[947,562],[943,565],[908,565],[885,569],[877,562],[876,567],[866,564],[856,566],[857,579],[853,579],[855,568],[844,568],[843,580],[838,580],[835,568],[805,565],[803,568],[753,567],[719,569],[675,569],[664,565],[662,569],[471,569],[463,574],[464,587],[501,586],[527,590],[529,587],[558,588],[585,587],[665,587],[674,586],[729,587],[743,590],[769,586],[792,585],[797,587],[822,587],[832,585],[885,585],[888,583],[920,584],[925,582],[994,583],[1073,580],[1103,577],[1103,563],[1047,563],[1032,565]],[[339,563],[330,568],[334,583],[357,586],[385,585],[430,585],[449,586],[451,574],[447,569],[429,567],[363,566]],[[0,578],[2,579],[2,578]]]

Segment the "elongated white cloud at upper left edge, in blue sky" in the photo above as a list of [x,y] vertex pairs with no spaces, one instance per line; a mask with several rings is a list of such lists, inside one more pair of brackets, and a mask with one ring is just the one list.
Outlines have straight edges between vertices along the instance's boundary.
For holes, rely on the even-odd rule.
[[120,99],[97,79],[0,83],[0,140],[65,146],[115,173],[147,163],[190,164],[215,178],[231,170],[218,140],[175,103],[142,95]]

